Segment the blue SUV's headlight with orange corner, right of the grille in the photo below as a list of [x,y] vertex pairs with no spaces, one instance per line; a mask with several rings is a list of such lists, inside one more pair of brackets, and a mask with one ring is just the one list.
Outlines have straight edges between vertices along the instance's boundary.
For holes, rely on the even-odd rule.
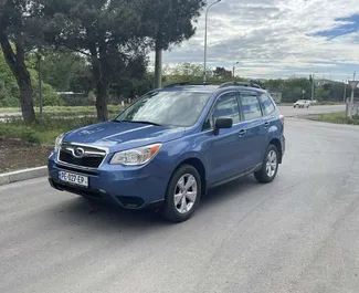
[[116,153],[110,164],[120,164],[125,166],[144,165],[156,156],[161,146],[161,144],[156,144]]

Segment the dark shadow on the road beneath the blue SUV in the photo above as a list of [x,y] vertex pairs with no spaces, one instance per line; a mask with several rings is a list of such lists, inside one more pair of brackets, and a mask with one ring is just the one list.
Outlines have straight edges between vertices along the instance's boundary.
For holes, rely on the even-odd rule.
[[[250,176],[211,189],[208,195],[202,197],[196,217],[201,217],[208,209],[228,205],[228,200],[244,196],[245,191],[253,186],[257,186],[257,184]],[[61,193],[56,196],[61,196]],[[97,236],[102,232],[108,233],[108,230],[114,232],[136,231],[138,233],[173,226],[163,220],[158,211],[117,209],[76,196],[73,199],[62,201],[61,205],[53,206],[47,212],[51,213],[46,214],[49,224],[55,224],[56,227],[76,226],[86,231],[89,229]],[[182,224],[188,224],[189,222]]]

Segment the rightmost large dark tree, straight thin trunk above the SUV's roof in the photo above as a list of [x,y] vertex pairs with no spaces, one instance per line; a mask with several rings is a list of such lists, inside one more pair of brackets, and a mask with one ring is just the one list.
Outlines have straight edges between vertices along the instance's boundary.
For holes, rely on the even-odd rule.
[[155,87],[160,87],[162,51],[190,39],[204,0],[144,0],[144,31],[151,38],[156,52]]

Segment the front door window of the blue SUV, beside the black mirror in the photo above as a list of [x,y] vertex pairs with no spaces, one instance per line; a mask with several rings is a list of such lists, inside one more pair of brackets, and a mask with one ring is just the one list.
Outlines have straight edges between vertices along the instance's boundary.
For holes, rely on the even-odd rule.
[[219,117],[230,117],[233,119],[233,124],[241,121],[237,95],[235,93],[228,93],[219,97],[210,117],[205,122],[204,129],[213,128],[215,119]]

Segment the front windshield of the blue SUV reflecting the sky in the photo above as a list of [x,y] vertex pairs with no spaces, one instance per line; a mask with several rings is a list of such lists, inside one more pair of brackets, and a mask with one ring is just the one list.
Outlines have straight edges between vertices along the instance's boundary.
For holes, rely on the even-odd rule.
[[198,121],[210,97],[210,93],[155,92],[145,95],[115,121],[188,127]]

